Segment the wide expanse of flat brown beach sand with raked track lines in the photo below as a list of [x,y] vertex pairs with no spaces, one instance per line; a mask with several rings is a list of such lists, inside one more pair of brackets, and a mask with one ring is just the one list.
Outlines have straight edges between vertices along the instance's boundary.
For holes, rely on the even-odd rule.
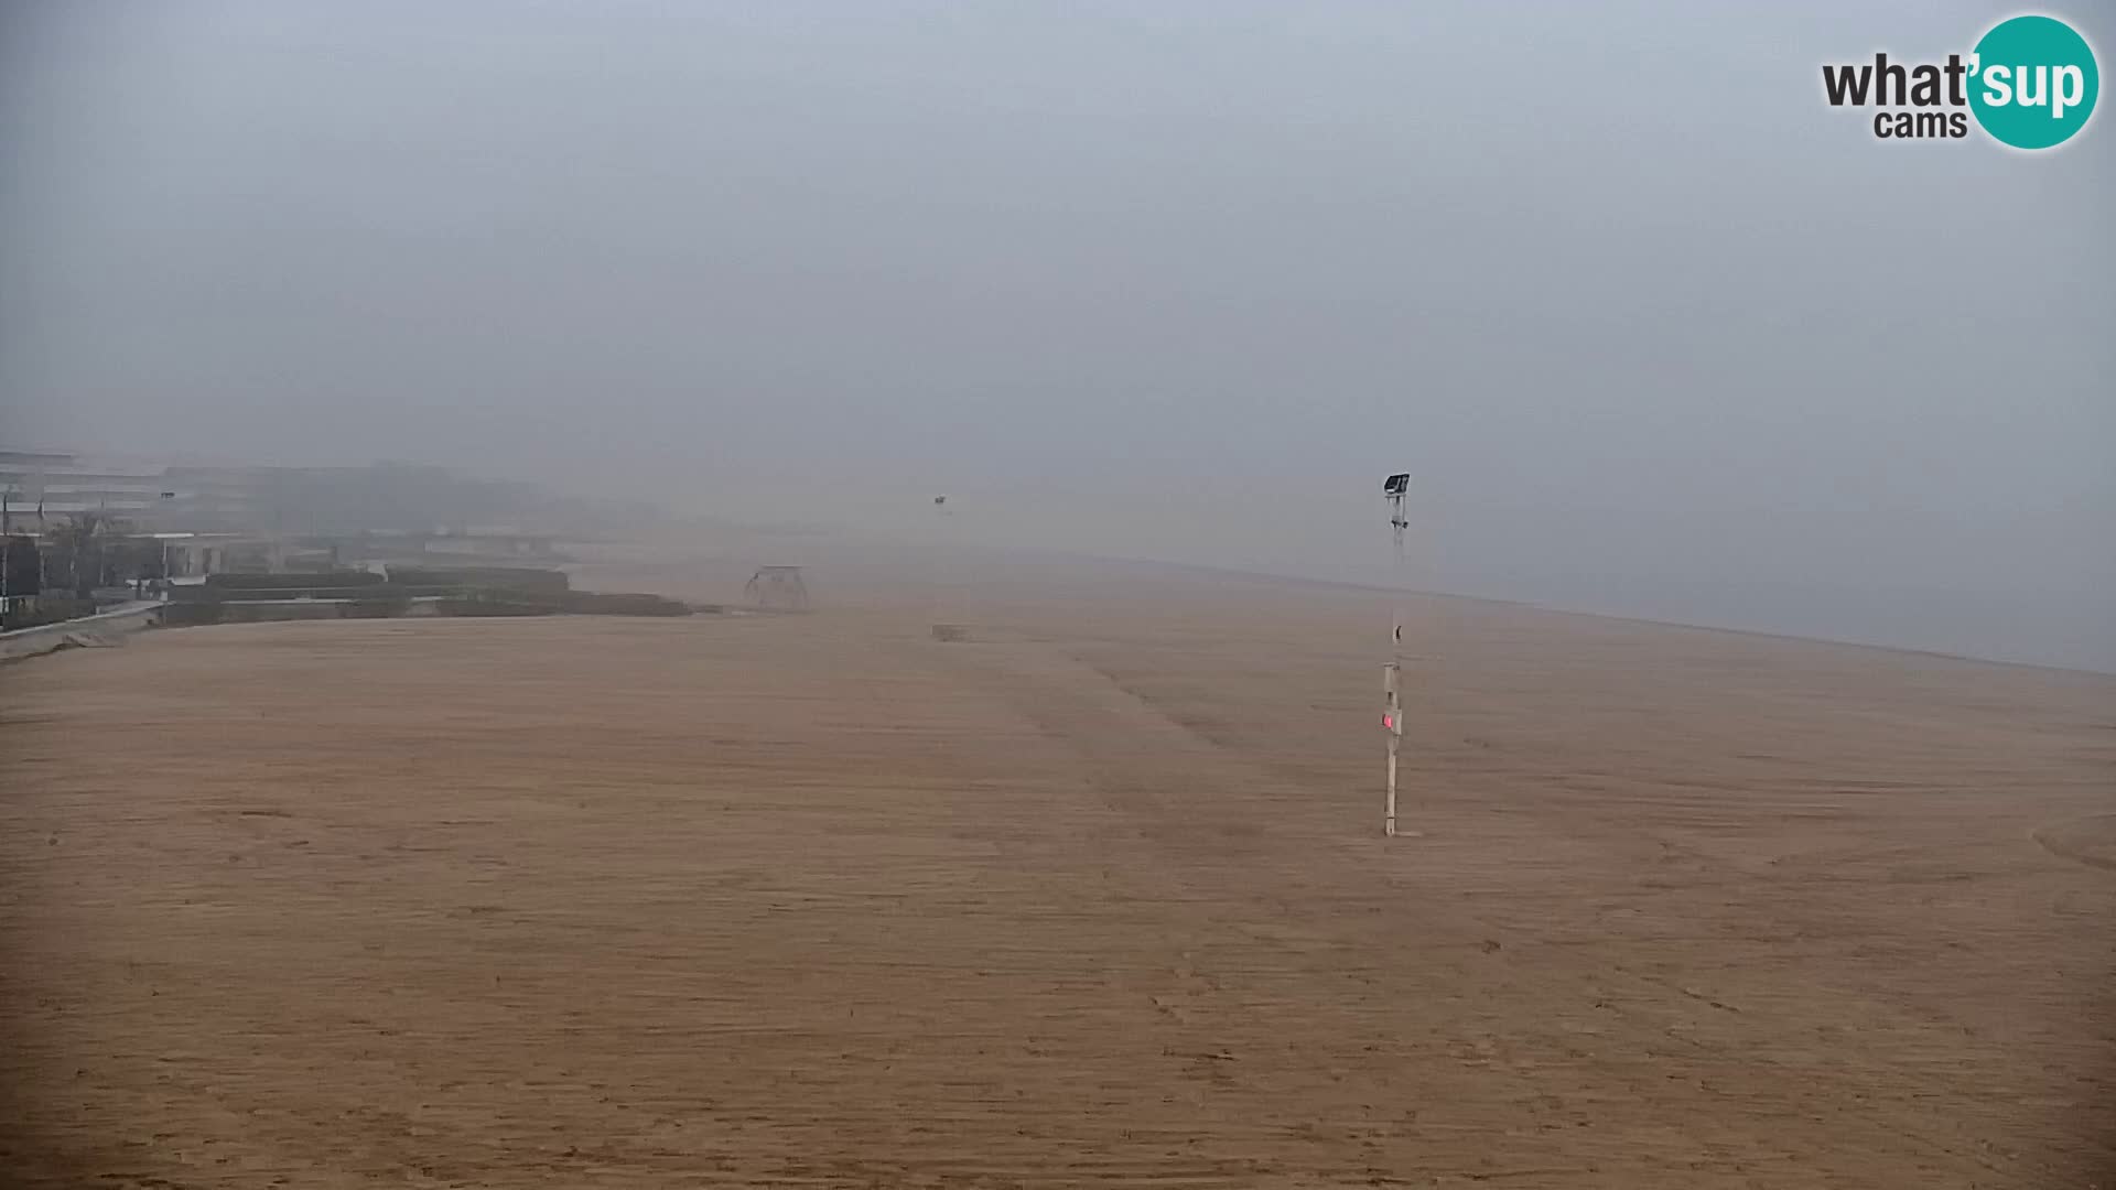
[[1420,601],[1390,843],[1382,595],[815,587],[6,667],[0,1165],[2112,1184],[2116,678]]

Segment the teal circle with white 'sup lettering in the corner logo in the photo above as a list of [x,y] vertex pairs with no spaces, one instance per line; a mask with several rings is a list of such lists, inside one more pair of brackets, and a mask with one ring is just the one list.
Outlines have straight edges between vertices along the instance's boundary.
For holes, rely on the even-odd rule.
[[2000,144],[2059,146],[2095,114],[2099,95],[2093,47],[2055,17],[2012,17],[1976,42],[1970,110]]

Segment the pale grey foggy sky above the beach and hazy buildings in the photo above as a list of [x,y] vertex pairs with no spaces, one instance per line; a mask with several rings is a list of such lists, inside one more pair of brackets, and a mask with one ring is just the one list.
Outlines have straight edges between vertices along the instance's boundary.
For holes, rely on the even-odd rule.
[[2116,112],[1820,93],[2010,13],[15,4],[0,438],[2116,669]]

